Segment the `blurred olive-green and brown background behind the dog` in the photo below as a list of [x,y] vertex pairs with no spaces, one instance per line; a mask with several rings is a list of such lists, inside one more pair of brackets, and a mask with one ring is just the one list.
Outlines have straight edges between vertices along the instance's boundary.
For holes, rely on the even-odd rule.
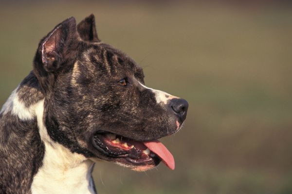
[[[239,1],[241,2],[241,1]],[[292,194],[292,7],[182,1],[0,4],[0,106],[56,24],[93,13],[99,37],[189,102],[162,139],[176,169],[96,163],[99,194]]]

